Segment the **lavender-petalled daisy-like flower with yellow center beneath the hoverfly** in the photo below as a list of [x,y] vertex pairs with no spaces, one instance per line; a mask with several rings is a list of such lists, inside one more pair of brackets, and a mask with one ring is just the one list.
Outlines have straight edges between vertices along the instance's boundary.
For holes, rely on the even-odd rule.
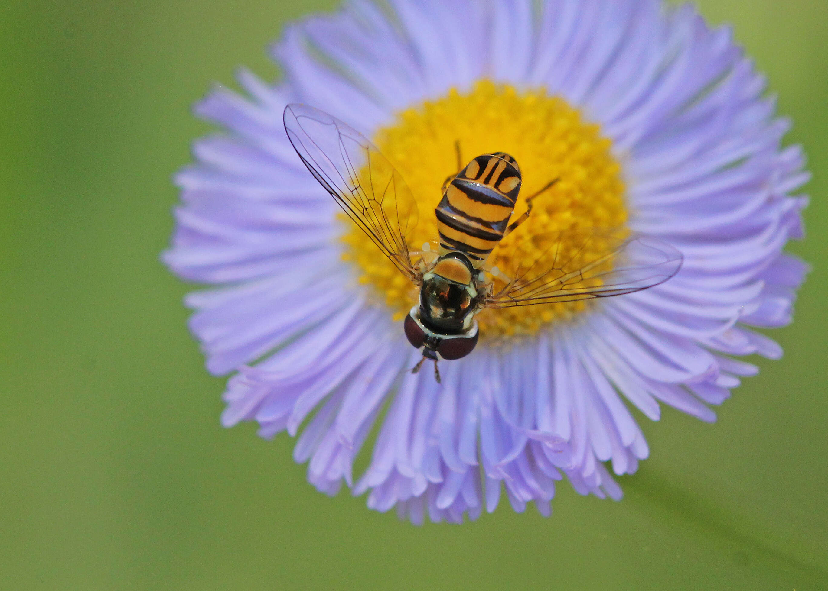
[[[283,82],[243,70],[248,98],[217,88],[197,106],[230,134],[196,142],[197,164],[176,177],[164,261],[219,286],[186,304],[209,372],[234,372],[223,424],[300,434],[294,458],[320,491],[345,483],[417,523],[474,519],[503,490],[515,511],[534,502],[548,515],[564,476],[618,499],[610,469],[633,473],[648,454],[629,406],[712,421],[708,405],[758,371],[734,356],[782,355],[749,327],[791,320],[807,269],[782,247],[802,237],[806,198],[790,194],[808,175],[728,28],[655,0],[546,0],[540,12],[531,0],[393,0],[390,12],[356,1],[288,27],[273,55]],[[684,265],[596,305],[481,315],[493,339],[441,363],[441,384],[412,374],[420,353],[398,321],[411,286],[301,165],[287,103],[372,138],[421,204],[423,236],[459,140],[468,155],[516,156],[523,191],[561,178],[527,235],[621,224]]]

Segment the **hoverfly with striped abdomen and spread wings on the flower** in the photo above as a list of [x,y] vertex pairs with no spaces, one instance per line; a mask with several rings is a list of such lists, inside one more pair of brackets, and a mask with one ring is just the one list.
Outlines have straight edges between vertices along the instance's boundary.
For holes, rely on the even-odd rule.
[[[475,315],[484,309],[586,300],[640,291],[667,281],[681,267],[681,252],[640,234],[595,231],[579,234],[575,254],[558,257],[567,233],[545,237],[541,257],[509,257],[504,273],[487,265],[501,239],[524,222],[527,211],[509,223],[520,191],[517,161],[504,152],[477,156],[443,184],[435,209],[439,248],[409,247],[416,227],[416,200],[402,176],[371,142],[328,113],[303,104],[287,105],[287,137],[307,169],[345,214],[373,240],[380,252],[420,288],[419,302],[405,318],[408,341],[428,359],[459,359],[472,352],[479,331]],[[405,199],[401,196],[405,195]],[[583,255],[590,241],[601,241],[604,254]],[[591,251],[590,251],[591,252]],[[495,289],[495,279],[503,284]],[[584,286],[585,283],[591,286]]]

